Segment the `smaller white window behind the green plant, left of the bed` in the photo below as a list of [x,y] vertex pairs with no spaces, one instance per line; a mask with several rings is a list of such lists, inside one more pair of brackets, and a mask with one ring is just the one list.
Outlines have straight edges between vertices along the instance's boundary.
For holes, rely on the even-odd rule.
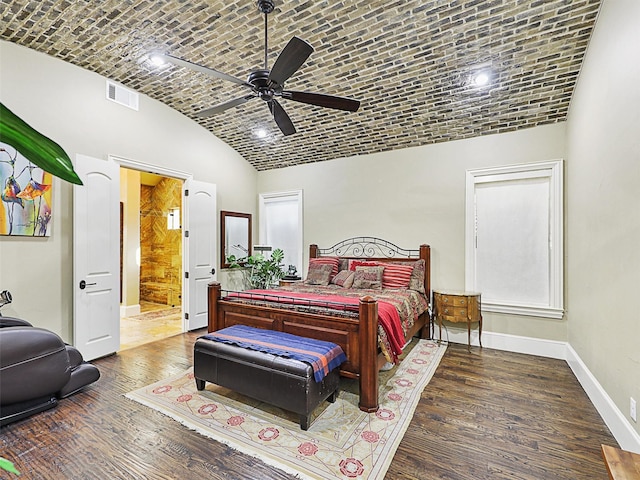
[[302,190],[260,194],[260,244],[284,251],[284,268],[302,269]]

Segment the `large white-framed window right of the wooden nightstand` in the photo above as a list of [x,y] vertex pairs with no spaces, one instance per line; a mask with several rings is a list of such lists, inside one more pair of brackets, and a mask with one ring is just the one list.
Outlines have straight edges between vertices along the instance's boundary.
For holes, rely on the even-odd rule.
[[562,318],[562,161],[467,171],[465,288],[485,311]]

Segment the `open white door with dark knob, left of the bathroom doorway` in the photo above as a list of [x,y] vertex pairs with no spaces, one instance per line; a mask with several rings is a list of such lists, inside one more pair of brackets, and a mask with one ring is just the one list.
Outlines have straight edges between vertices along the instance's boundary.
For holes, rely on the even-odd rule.
[[84,155],[74,167],[73,337],[92,360],[120,348],[120,167]]

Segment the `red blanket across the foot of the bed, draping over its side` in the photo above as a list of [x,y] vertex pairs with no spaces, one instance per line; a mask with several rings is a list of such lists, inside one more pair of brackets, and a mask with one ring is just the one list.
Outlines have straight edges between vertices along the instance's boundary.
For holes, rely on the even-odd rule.
[[[264,297],[263,297],[264,296]],[[260,300],[285,303],[290,305],[312,305],[325,306],[327,302],[336,304],[333,307],[344,306],[345,310],[358,311],[360,300],[358,298],[341,297],[340,295],[315,295],[312,293],[284,292],[282,290],[246,290],[245,292],[234,292],[227,298],[257,298]],[[400,321],[400,314],[392,304],[378,300],[378,321],[389,338],[394,362],[402,354],[404,347],[404,333]],[[338,307],[339,308],[339,307]]]

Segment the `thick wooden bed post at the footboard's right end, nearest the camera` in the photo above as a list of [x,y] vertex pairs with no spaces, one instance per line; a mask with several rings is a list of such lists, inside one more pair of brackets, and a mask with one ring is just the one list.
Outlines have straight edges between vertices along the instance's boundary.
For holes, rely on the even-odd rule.
[[378,304],[366,296],[360,299],[360,403],[363,412],[378,410]]

